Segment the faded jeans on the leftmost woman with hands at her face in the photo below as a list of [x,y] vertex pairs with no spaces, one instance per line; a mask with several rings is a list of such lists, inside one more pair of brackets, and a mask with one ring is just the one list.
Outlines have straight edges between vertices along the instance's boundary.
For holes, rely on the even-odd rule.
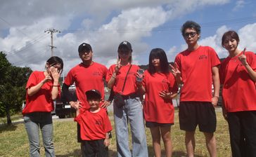
[[45,156],[55,156],[53,147],[53,120],[51,112],[33,112],[24,116],[25,128],[30,141],[30,156],[40,156],[41,130]]

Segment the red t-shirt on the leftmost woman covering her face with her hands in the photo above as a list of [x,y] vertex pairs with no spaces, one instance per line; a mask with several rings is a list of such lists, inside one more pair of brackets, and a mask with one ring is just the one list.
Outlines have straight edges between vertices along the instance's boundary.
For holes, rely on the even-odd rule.
[[[44,71],[34,71],[27,81],[26,90],[43,81]],[[41,89],[32,96],[26,94],[26,106],[23,109],[23,115],[37,111],[51,112],[54,109],[53,100],[51,100],[51,90],[53,81],[44,83]],[[58,97],[60,97],[60,87],[58,87]]]

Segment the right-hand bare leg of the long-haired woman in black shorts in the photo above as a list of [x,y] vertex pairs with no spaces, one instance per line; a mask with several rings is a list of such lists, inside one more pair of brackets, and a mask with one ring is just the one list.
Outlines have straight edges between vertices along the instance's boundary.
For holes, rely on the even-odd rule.
[[165,144],[165,156],[172,157],[171,127],[161,127],[162,141]]

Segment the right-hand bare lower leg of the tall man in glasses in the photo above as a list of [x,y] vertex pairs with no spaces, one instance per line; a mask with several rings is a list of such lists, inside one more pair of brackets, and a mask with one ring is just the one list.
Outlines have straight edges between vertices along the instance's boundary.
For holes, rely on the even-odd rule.
[[205,144],[211,157],[217,156],[216,139],[214,133],[203,132],[205,134]]

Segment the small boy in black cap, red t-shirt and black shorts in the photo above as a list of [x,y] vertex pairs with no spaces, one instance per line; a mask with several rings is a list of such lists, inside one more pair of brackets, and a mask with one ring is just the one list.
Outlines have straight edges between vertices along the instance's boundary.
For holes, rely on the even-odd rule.
[[81,126],[80,135],[83,140],[82,156],[108,156],[108,132],[112,127],[107,112],[100,108],[101,93],[98,90],[88,90],[85,95],[90,109],[79,109],[79,102],[75,105],[75,121]]

